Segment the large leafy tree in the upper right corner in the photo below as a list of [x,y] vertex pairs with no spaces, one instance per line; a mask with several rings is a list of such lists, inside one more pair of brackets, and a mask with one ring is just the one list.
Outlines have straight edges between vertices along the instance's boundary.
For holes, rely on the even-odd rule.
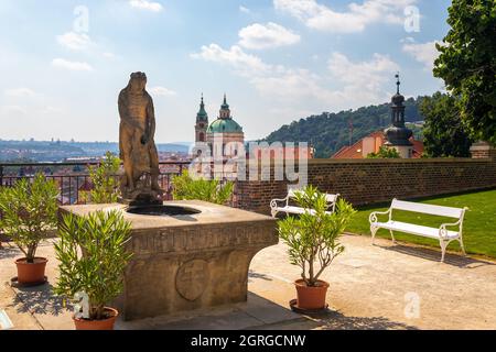
[[496,1],[453,0],[448,24],[434,76],[461,97],[472,138],[496,143]]

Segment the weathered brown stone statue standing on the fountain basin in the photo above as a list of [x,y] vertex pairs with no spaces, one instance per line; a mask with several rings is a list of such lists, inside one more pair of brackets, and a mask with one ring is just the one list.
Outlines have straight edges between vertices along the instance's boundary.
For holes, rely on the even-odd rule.
[[125,177],[121,187],[132,193],[140,177],[149,174],[151,189],[160,191],[159,156],[154,143],[155,113],[153,100],[144,89],[147,75],[133,73],[119,94],[119,150]]

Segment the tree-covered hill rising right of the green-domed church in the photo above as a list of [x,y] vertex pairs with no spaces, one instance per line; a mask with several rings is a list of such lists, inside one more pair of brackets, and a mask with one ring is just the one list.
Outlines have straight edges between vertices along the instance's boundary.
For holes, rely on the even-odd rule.
[[[410,98],[405,102],[406,121],[423,121],[419,103],[423,97]],[[390,124],[390,105],[363,107],[337,113],[323,112],[306,119],[284,124],[270,133],[265,141],[308,142],[315,147],[315,157],[330,157],[344,145],[349,144],[349,124],[353,121],[353,142]]]

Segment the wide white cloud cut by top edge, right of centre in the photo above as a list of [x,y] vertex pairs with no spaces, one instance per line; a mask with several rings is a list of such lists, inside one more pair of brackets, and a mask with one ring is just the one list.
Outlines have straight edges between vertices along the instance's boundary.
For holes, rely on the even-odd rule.
[[276,10],[289,13],[306,26],[335,33],[362,32],[371,23],[403,23],[403,9],[418,0],[365,0],[338,12],[316,0],[273,0]]

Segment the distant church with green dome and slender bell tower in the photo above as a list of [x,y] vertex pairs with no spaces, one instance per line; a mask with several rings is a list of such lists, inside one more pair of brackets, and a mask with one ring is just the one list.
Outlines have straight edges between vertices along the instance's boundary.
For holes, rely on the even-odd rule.
[[[230,114],[226,95],[224,95],[224,101],[220,106],[218,118],[209,124],[208,114],[205,111],[205,103],[202,96],[200,111],[196,114],[195,133],[196,144],[207,143],[211,147],[214,144],[214,140],[222,141],[223,148],[227,143],[237,142],[241,143],[241,145],[245,143],[245,133],[239,123],[237,123]],[[223,154],[226,154],[226,151],[224,151]]]

